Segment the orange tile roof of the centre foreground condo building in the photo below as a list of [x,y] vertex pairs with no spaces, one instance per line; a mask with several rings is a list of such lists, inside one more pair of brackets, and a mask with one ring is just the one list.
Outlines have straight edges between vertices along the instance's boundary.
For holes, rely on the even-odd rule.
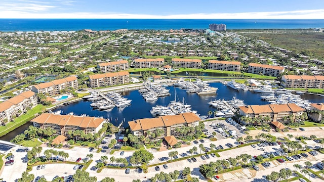
[[200,118],[193,113],[182,113],[174,116],[160,116],[155,118],[137,119],[129,121],[128,124],[132,131],[147,130],[156,127],[172,126],[181,123],[192,123],[200,121]]

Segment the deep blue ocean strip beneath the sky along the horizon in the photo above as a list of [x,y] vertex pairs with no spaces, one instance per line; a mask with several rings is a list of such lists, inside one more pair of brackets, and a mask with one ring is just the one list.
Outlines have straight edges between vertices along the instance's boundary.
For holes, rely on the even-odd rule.
[[323,28],[323,19],[0,19],[0,31],[206,29],[209,24],[226,24],[227,29]]

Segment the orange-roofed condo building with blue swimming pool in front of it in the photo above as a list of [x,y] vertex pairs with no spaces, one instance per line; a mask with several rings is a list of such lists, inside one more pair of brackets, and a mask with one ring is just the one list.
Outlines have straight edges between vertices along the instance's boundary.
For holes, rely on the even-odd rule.
[[73,89],[78,88],[77,78],[75,76],[56,79],[46,83],[39,83],[33,85],[31,90],[38,94],[49,94],[49,96],[52,97],[60,94],[60,90],[68,87]]

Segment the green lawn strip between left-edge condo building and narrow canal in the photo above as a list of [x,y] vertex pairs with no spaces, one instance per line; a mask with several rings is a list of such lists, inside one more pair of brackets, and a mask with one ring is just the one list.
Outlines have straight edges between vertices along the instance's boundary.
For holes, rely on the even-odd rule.
[[0,126],[0,136],[3,136],[10,131],[16,129],[17,127],[25,124],[26,122],[30,121],[32,118],[34,118],[38,112],[43,112],[45,110],[45,106],[42,104],[38,104],[31,110],[27,111],[26,114],[23,114],[19,117],[17,117],[14,122],[9,122],[5,126]]

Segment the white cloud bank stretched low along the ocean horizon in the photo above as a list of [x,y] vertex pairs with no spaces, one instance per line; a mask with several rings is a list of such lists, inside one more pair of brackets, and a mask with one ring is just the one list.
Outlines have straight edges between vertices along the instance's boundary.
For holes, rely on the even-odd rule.
[[[178,15],[147,15],[118,13],[28,13],[25,10],[45,11],[54,6],[34,5],[18,7],[15,11],[0,6],[0,18],[98,18],[98,19],[324,19],[324,9],[285,12],[250,12],[250,13],[199,13]],[[18,11],[17,11],[18,10]]]

